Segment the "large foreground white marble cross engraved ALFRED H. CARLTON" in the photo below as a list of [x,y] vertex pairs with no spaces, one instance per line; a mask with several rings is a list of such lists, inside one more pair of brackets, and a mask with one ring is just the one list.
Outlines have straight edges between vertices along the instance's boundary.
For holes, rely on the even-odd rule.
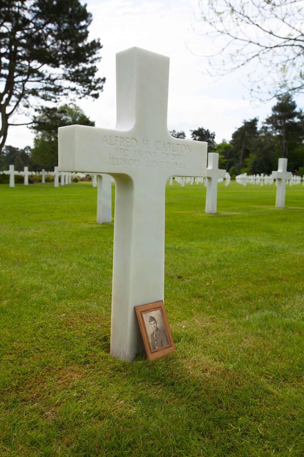
[[168,132],[169,58],[141,48],[116,54],[114,129],[61,127],[59,169],[115,181],[111,354],[142,350],[134,306],[164,299],[165,185],[204,176],[207,143]]

